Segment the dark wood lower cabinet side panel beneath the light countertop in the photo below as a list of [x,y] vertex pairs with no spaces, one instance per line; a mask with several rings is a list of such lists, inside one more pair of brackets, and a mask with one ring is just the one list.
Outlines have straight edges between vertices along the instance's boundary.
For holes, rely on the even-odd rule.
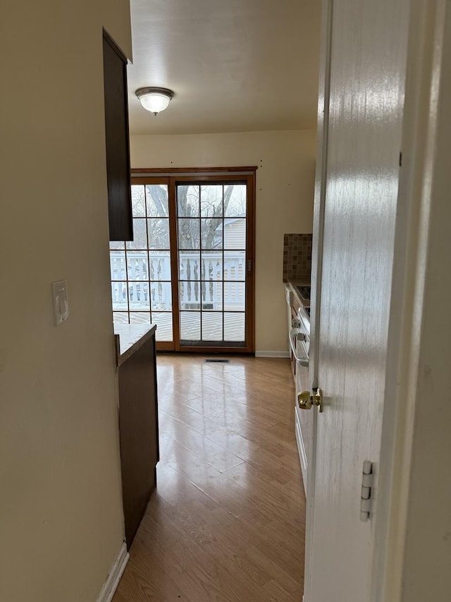
[[159,461],[155,335],[118,366],[125,541],[130,549]]

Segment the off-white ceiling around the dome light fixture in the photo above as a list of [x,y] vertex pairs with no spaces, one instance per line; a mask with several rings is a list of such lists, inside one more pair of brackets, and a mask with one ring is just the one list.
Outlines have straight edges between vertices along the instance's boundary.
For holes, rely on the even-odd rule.
[[[130,133],[314,128],[319,0],[131,0]],[[170,88],[154,116],[135,90]]]

